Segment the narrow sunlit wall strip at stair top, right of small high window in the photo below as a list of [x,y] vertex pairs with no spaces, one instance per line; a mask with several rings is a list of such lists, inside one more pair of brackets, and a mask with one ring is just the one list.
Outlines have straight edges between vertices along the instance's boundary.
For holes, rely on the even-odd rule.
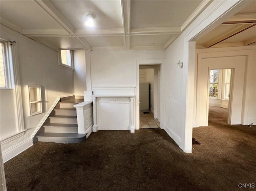
[[86,90],[85,50],[74,50],[74,90],[75,95],[84,95]]

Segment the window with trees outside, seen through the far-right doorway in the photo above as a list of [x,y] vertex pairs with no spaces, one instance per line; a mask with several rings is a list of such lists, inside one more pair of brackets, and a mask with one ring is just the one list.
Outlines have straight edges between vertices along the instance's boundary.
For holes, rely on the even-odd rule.
[[218,98],[219,70],[210,70],[210,97]]

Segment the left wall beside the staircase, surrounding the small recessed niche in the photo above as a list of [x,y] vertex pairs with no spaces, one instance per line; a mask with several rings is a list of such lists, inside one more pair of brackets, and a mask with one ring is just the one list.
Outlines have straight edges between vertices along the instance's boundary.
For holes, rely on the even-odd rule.
[[[1,25],[1,30],[12,33],[16,36],[16,46],[18,46],[18,64],[20,69],[20,84],[22,94],[22,107],[24,114],[24,128],[26,132],[23,136],[2,144],[2,153],[5,158],[8,152],[18,154],[21,152],[20,144],[31,140],[31,135],[38,127],[52,104],[58,96],[74,94],[73,72],[58,67],[58,53],[24,35],[9,30]],[[42,110],[41,114],[28,116],[28,97],[26,85],[41,85],[42,89]],[[1,94],[1,100],[5,97]],[[2,106],[1,106],[2,107]],[[2,108],[1,108],[2,109]],[[6,118],[9,115],[5,113]],[[5,116],[1,115],[1,120]],[[5,127],[0,127],[5,128]],[[24,149],[27,147],[24,146]]]

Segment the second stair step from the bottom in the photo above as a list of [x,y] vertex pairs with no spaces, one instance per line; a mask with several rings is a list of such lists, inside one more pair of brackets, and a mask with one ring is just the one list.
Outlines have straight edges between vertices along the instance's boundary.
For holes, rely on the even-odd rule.
[[44,126],[44,132],[48,133],[78,133],[77,124],[49,123]]

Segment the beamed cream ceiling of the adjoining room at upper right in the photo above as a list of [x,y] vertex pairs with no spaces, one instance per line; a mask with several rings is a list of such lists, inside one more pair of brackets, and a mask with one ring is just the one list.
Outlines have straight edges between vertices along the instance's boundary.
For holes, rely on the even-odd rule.
[[196,41],[196,47],[256,45],[256,1]]

